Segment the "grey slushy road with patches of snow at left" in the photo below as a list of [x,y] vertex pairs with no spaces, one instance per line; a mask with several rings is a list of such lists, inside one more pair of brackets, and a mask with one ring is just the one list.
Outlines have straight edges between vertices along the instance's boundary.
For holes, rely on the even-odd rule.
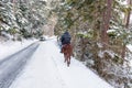
[[0,88],[9,88],[37,46],[34,43],[0,62]]

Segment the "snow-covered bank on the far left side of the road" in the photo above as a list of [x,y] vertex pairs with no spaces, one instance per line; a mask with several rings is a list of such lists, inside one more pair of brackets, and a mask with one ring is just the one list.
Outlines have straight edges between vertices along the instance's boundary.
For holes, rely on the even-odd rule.
[[18,41],[0,42],[0,61],[26,47],[28,45],[34,43],[35,41],[36,40],[23,40],[22,42],[18,42]]

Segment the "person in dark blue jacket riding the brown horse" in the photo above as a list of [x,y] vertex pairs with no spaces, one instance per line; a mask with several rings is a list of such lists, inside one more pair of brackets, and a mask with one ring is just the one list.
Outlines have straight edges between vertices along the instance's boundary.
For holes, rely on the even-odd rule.
[[61,53],[62,53],[63,45],[70,44],[70,40],[72,40],[72,36],[68,30],[66,30],[66,32],[61,37],[61,42],[62,42]]

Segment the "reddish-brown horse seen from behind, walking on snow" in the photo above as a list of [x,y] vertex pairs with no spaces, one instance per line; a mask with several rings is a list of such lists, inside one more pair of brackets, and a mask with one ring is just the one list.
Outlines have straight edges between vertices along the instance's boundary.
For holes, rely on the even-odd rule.
[[73,55],[73,46],[70,44],[63,45],[62,53],[64,53],[65,63],[70,64],[70,56]]

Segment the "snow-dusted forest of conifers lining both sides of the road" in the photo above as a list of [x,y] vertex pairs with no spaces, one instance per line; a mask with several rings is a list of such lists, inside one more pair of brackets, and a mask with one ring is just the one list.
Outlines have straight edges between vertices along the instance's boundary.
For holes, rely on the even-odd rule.
[[0,42],[38,38],[45,25],[58,40],[68,30],[74,56],[114,88],[132,88],[132,0],[0,0]]

